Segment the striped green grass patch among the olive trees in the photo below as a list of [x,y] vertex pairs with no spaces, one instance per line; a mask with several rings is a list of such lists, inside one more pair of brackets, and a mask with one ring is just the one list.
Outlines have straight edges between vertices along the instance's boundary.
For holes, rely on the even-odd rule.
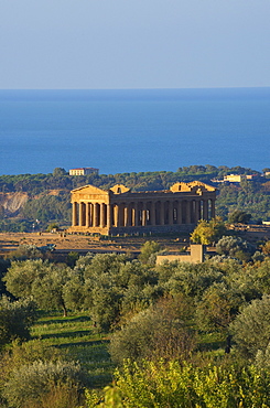
[[87,314],[63,318],[56,313],[42,313],[31,334],[78,361],[87,372],[91,388],[102,388],[111,382],[115,367],[108,353],[108,335],[97,333]]

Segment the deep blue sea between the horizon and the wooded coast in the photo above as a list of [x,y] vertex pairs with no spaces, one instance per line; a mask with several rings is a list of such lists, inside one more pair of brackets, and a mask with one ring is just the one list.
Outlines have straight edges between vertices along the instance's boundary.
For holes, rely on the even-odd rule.
[[0,175],[270,168],[270,88],[0,90]]

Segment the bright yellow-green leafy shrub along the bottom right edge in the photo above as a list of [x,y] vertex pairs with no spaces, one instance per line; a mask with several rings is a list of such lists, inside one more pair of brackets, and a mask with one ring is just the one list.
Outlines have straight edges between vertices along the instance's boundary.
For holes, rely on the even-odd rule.
[[179,362],[126,362],[102,400],[87,393],[87,407],[269,408],[269,371],[249,366],[197,368]]

